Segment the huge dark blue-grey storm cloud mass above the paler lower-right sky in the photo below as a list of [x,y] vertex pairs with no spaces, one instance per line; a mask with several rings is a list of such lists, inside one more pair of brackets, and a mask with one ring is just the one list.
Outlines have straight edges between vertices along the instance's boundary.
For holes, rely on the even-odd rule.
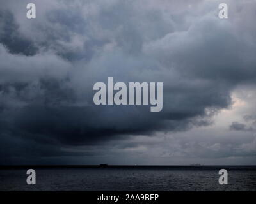
[[[216,3],[35,3],[32,21],[16,9],[25,1],[0,10],[0,127],[8,157],[60,156],[62,147],[207,126],[231,105],[237,85],[255,83],[254,30],[248,21],[241,29],[237,18],[221,21]],[[236,4],[243,14],[247,6]],[[95,106],[93,84],[108,77],[163,82],[163,111]],[[24,150],[8,151],[17,141]]]

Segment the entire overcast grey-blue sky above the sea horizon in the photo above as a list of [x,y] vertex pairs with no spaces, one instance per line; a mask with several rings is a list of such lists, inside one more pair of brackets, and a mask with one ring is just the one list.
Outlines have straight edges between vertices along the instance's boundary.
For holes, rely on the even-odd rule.
[[[255,19],[255,0],[0,0],[0,164],[256,164]],[[94,105],[108,77],[163,82],[163,110]]]

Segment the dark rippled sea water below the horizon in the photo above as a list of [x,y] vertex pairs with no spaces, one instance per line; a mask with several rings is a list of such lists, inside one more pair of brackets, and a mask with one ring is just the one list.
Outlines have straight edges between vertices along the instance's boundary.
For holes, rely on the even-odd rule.
[[[228,185],[218,170],[228,170]],[[256,167],[35,168],[36,185],[26,169],[0,170],[0,191],[256,191]]]

